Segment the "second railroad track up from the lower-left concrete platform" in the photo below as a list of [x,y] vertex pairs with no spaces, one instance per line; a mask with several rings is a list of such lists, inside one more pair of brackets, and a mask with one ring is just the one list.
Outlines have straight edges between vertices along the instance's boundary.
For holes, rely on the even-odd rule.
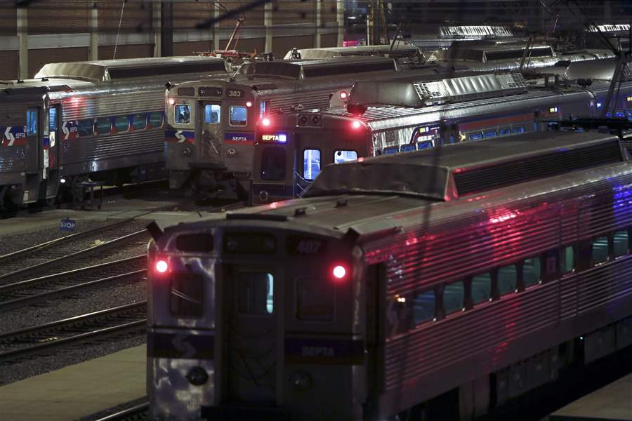
[[140,281],[147,269],[147,257],[115,260],[67,272],[40,276],[0,286],[0,312],[71,295],[89,288]]

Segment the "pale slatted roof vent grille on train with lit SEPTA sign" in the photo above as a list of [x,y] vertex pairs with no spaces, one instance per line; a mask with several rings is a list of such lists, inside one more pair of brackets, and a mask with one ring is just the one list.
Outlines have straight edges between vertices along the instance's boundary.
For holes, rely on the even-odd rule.
[[433,105],[525,93],[527,82],[520,73],[478,74],[414,83],[414,87],[422,102]]

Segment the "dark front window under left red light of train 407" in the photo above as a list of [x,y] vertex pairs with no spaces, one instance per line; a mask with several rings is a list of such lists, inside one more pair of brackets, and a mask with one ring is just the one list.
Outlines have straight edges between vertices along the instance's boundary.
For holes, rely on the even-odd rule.
[[169,310],[174,316],[202,317],[204,278],[197,274],[174,273],[171,278]]

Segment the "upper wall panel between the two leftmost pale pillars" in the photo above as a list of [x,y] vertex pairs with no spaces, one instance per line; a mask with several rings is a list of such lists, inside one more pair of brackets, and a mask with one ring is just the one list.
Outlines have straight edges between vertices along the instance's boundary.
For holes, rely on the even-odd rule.
[[88,32],[87,0],[34,1],[29,4],[29,34]]

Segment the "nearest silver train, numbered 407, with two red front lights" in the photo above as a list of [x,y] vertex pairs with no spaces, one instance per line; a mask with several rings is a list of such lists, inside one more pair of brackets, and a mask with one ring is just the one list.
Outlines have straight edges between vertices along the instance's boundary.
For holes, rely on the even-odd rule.
[[153,226],[151,415],[473,420],[632,345],[631,197],[618,138],[529,133]]

